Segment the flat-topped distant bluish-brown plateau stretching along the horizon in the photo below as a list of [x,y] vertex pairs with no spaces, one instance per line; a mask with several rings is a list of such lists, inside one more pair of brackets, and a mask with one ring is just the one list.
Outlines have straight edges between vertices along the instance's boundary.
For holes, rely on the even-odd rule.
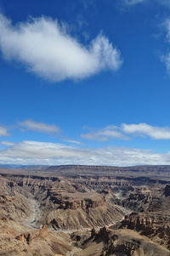
[[170,178],[170,165],[141,165],[130,167],[116,166],[93,166],[93,165],[0,165],[0,172],[14,171],[24,172],[25,174],[36,173],[48,175],[89,175],[89,176],[127,176],[133,177],[162,177],[163,179]]

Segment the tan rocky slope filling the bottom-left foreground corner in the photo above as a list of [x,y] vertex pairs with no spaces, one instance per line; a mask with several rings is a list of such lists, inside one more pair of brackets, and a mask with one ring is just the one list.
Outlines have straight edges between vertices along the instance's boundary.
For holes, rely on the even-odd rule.
[[[19,232],[14,222],[0,223],[0,255],[39,256],[66,255],[71,251],[69,236],[54,234],[43,226],[40,230]],[[3,231],[3,234],[2,234]]]

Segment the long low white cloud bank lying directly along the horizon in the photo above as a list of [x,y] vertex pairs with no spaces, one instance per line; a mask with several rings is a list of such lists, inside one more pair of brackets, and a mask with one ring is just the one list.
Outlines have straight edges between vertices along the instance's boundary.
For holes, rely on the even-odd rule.
[[129,166],[138,164],[169,164],[170,152],[159,154],[148,150],[122,147],[83,149],[78,146],[23,141],[0,150],[3,164],[88,164]]

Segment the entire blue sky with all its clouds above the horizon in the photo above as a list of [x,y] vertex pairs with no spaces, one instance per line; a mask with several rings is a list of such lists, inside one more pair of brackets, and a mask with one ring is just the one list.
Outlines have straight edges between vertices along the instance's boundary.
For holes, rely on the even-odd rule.
[[170,164],[169,0],[0,0],[0,164]]

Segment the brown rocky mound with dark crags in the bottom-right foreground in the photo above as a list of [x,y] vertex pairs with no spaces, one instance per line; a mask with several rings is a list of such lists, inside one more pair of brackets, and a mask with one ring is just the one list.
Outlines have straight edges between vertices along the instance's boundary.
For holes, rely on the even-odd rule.
[[127,255],[127,256],[169,256],[170,252],[132,230],[109,230],[105,227],[95,236],[82,242],[79,256]]

